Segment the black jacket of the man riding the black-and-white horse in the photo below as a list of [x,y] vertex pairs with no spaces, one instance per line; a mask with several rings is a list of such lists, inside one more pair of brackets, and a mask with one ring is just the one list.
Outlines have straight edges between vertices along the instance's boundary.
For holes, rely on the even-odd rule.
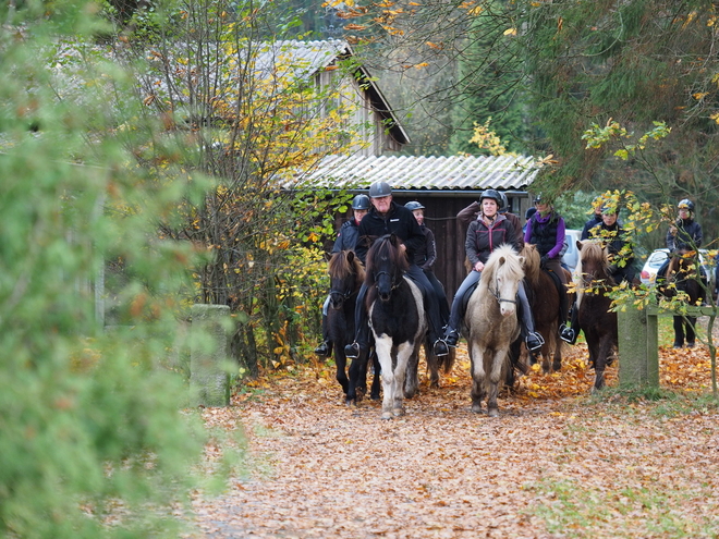
[[427,241],[414,213],[394,201],[386,216],[380,216],[373,206],[360,223],[360,237],[354,252],[365,264],[371,243],[385,234],[395,234],[407,248],[407,257],[414,262],[415,253]]

